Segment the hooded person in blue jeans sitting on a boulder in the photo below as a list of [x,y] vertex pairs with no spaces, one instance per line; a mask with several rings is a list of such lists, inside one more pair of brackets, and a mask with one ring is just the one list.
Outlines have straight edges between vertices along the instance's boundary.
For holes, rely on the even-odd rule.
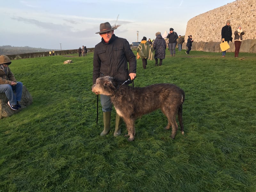
[[8,98],[8,105],[12,110],[21,108],[19,101],[21,100],[22,86],[21,82],[17,82],[9,65],[11,60],[6,55],[0,56],[0,93],[5,93]]

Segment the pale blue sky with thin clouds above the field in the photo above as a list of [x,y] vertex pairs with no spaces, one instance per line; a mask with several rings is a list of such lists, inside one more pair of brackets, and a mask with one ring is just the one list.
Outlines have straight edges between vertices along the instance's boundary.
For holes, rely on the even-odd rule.
[[234,0],[12,0],[1,1],[0,46],[49,50],[95,47],[100,23],[120,25],[115,35],[132,42],[173,28],[185,35],[188,20]]

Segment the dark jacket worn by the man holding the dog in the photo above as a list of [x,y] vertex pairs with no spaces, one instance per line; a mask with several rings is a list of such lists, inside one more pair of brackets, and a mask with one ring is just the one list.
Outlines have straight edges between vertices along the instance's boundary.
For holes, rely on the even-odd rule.
[[92,83],[102,76],[125,81],[130,73],[136,73],[136,67],[136,57],[128,41],[113,34],[108,43],[102,38],[94,48]]

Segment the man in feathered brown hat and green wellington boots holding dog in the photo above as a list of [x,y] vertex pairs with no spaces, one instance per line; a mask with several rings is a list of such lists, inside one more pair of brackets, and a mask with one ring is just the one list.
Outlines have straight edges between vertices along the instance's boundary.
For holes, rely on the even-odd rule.
[[[98,77],[102,76],[112,76],[121,82],[126,81],[128,76],[131,80],[136,76],[136,57],[128,41],[115,36],[115,29],[117,27],[112,27],[109,22],[105,22],[100,24],[100,31],[96,33],[100,34],[101,42],[95,45],[94,48],[93,84],[95,84]],[[129,62],[129,68],[127,62]],[[104,130],[100,133],[100,136],[105,136],[110,130],[112,103],[110,97],[106,95],[100,95],[100,102],[104,124]],[[122,119],[116,114],[115,137],[121,134],[121,124]]]

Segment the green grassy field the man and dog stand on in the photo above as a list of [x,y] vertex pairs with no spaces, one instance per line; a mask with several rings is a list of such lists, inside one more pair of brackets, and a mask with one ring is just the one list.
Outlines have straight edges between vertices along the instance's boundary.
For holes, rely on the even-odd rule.
[[113,137],[115,110],[100,137],[92,61],[93,53],[12,61],[33,103],[0,120],[0,192],[256,191],[256,54],[166,52],[162,66],[148,61],[145,70],[138,60],[135,86],[185,91],[185,133],[170,139],[156,110],[136,120],[132,142],[124,124]]

